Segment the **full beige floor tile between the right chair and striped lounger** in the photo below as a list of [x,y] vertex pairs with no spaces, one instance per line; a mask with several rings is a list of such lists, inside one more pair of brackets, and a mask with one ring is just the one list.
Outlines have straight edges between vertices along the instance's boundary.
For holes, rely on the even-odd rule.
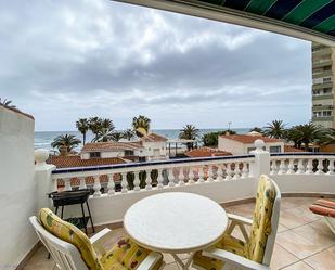
[[291,230],[279,233],[276,243],[299,259],[319,253],[324,247],[324,245],[309,241]]

